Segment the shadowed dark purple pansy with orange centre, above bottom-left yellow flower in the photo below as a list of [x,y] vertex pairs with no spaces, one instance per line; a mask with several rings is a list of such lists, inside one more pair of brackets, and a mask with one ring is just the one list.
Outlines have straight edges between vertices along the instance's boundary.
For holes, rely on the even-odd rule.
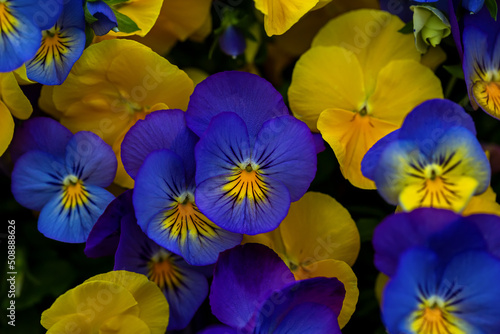
[[186,327],[208,295],[211,268],[191,266],[149,239],[137,225],[132,190],[106,208],[89,234],[85,254],[114,255],[114,270],[143,274],[158,285],[170,305],[169,330]]

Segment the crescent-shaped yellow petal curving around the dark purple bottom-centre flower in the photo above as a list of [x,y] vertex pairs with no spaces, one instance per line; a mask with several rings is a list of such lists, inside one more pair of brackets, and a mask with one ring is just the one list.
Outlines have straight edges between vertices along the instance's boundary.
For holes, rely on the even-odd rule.
[[294,275],[296,279],[336,277],[341,281],[344,284],[346,295],[342,304],[342,311],[338,317],[340,328],[349,322],[349,319],[351,319],[352,314],[356,310],[359,290],[358,279],[347,263],[338,260],[323,260],[300,268],[300,270],[294,272]]

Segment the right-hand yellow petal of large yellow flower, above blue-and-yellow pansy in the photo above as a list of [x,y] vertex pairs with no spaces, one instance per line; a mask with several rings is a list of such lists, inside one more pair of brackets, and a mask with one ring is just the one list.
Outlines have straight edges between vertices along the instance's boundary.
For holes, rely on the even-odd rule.
[[443,98],[438,77],[417,61],[396,60],[380,71],[366,107],[373,117],[400,126],[413,108],[434,98]]

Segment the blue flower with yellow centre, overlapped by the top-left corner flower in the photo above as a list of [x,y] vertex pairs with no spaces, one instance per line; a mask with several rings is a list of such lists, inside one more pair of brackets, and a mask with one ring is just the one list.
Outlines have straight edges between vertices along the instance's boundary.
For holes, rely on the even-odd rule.
[[80,0],[66,1],[56,24],[42,32],[35,57],[26,63],[28,78],[60,85],[85,48],[85,17]]

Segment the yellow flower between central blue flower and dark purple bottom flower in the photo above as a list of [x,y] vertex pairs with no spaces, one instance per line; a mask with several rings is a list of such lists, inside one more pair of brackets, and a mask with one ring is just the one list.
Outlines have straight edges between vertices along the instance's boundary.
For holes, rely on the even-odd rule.
[[335,277],[346,296],[338,317],[343,328],[356,309],[357,278],[351,267],[359,253],[356,223],[349,212],[328,195],[307,192],[290,205],[288,215],[271,232],[244,236],[244,243],[260,243],[275,251],[295,279]]

